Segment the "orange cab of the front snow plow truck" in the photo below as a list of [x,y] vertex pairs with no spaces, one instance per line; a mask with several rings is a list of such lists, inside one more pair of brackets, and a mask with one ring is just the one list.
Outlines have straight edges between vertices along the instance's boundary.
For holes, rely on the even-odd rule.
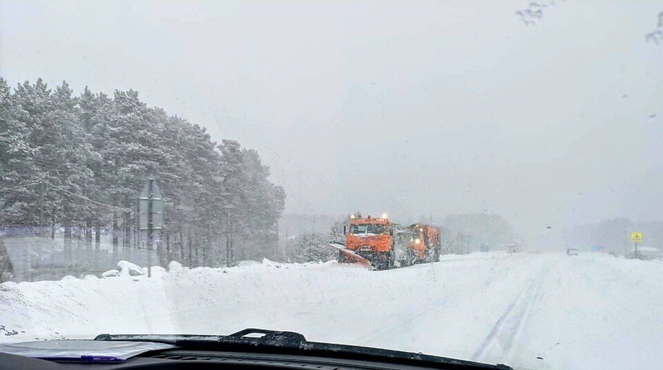
[[[353,218],[350,221],[350,232],[345,239],[345,246],[358,252],[389,252],[393,243],[390,227],[387,218]],[[381,232],[371,232],[377,229],[381,229]]]

